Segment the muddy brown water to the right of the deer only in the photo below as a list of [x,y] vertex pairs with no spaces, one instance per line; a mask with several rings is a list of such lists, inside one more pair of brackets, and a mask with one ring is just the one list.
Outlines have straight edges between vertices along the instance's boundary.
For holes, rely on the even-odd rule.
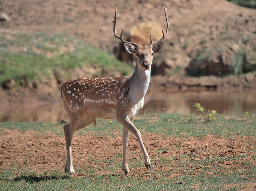
[[190,91],[156,93],[144,106],[142,112],[168,112],[192,114],[196,103],[206,110],[223,114],[242,114],[256,111],[255,91]]

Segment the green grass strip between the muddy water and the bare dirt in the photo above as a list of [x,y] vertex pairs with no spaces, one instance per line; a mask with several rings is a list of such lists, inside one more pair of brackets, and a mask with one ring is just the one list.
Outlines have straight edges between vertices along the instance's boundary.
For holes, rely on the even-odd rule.
[[[148,120],[153,118],[153,120]],[[116,120],[98,118],[97,126],[91,124],[77,131],[77,134],[95,132],[97,135],[122,133],[122,125]],[[216,120],[205,122],[204,116],[184,114],[144,114],[134,118],[133,123],[140,132],[153,132],[156,134],[174,136],[200,137],[204,134],[220,134],[224,137],[232,135],[256,136],[256,115],[226,115],[218,114]],[[22,132],[35,130],[39,133],[49,132],[63,135],[63,124],[36,123],[36,122],[0,122],[0,130],[10,129]]]

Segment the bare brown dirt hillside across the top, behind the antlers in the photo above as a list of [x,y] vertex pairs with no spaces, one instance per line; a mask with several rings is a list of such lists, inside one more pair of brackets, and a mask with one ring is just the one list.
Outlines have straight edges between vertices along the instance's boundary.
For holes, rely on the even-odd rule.
[[[226,0],[116,0],[113,3],[97,0],[2,0],[0,13],[7,14],[10,21],[1,22],[0,36],[11,40],[18,33],[60,33],[112,53],[119,43],[112,32],[116,8],[117,31],[119,33],[124,27],[125,35],[128,35],[129,30],[140,23],[152,22],[165,27],[162,4],[168,8],[171,26],[164,51],[154,60],[154,70],[165,77],[161,80],[186,85],[177,78],[185,74],[184,69],[193,60],[219,64],[221,58],[220,64],[230,66],[240,51],[245,52],[245,63],[256,65],[256,10]],[[160,28],[156,30],[161,32]],[[149,33],[139,35],[144,39],[148,37],[149,41]],[[15,43],[2,48],[13,52],[26,51],[17,48]],[[174,71],[178,71],[175,81],[172,77]],[[82,75],[86,75],[86,71]],[[243,87],[253,87],[254,77],[255,73],[242,76],[236,84],[245,81],[250,85],[242,84]],[[232,83],[230,77],[226,81]]]

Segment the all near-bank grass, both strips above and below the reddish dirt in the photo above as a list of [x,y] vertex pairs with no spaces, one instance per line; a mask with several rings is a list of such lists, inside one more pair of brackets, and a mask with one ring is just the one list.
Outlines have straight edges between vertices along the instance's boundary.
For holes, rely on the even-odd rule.
[[[223,115],[206,123],[204,115],[181,114],[145,114],[138,116],[134,124],[140,127],[142,134],[154,132],[162,140],[173,138],[201,138],[207,134],[216,134],[232,140],[234,136],[248,136],[255,140],[256,115]],[[146,119],[146,120],[145,120]],[[45,134],[48,132],[63,136],[61,124],[34,122],[1,122],[0,134],[7,129],[22,133]],[[31,130],[33,130],[31,132]],[[95,136],[122,134],[122,126],[115,120],[97,120],[97,127],[90,125],[78,132]],[[158,141],[158,140],[155,140]],[[2,143],[3,145],[4,143]],[[256,151],[256,144],[250,145]],[[177,145],[177,149],[180,146]],[[0,190],[240,190],[256,183],[256,157],[244,154],[209,158],[198,158],[198,151],[165,157],[162,152],[172,152],[170,147],[158,148],[158,157],[152,158],[152,171],[136,171],[126,176],[120,172],[122,155],[113,158],[89,158],[96,165],[75,166],[76,178],[62,171],[34,171],[19,167],[0,168]],[[211,154],[205,152],[205,154]],[[131,159],[130,169],[144,168],[141,159]],[[98,168],[98,166],[103,167]],[[228,163],[230,165],[223,165]],[[236,168],[233,168],[236,166]]]

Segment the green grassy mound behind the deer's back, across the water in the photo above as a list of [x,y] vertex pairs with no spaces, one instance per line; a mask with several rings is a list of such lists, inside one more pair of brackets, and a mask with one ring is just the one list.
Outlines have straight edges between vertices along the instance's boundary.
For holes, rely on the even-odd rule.
[[70,69],[100,68],[96,76],[131,75],[132,68],[78,39],[62,34],[18,33],[0,37],[0,84],[15,81],[44,82],[58,71],[62,78],[70,78]]

